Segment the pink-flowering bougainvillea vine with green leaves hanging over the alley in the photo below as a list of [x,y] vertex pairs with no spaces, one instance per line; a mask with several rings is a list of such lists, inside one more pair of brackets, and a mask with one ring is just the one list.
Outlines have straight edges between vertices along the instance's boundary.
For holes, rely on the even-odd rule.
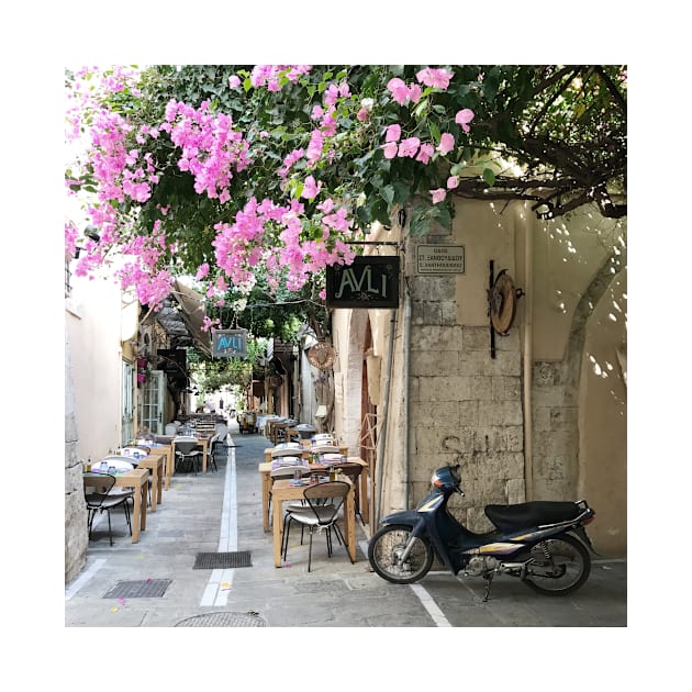
[[[274,290],[298,290],[325,267],[350,263],[358,247],[351,243],[376,222],[389,225],[403,207],[411,234],[432,223],[450,227],[467,166],[491,160],[499,138],[511,138],[510,116],[521,125],[513,152],[550,108],[565,129],[569,119],[558,109],[583,94],[562,89],[560,100],[532,104],[527,85],[558,83],[553,76],[566,69],[202,65],[69,72],[66,139],[80,153],[65,185],[83,200],[99,239],[80,237],[68,219],[66,256],[83,250],[76,268],[83,276],[120,256],[114,276],[155,309],[179,274],[194,276],[217,304],[230,287],[247,292],[258,272]],[[611,87],[625,79],[616,70],[607,78]],[[606,91],[593,93],[600,110],[588,114],[607,120],[613,112],[614,126],[594,121],[592,133],[616,132]],[[533,165],[536,153],[525,158]],[[483,191],[494,181],[487,167]]]

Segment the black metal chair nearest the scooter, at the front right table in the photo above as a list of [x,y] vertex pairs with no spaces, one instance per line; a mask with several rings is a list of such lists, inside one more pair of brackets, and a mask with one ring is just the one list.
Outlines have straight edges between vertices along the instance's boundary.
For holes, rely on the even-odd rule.
[[[310,547],[308,549],[308,571],[312,565],[312,536],[314,533],[326,532],[327,557],[332,557],[332,529],[336,534],[339,544],[348,547],[346,539],[338,527],[338,512],[350,490],[350,483],[346,481],[328,481],[308,485],[303,490],[305,507],[297,507],[287,513],[283,522],[283,560],[288,553],[289,534],[291,524],[297,522],[301,527],[310,529]],[[327,502],[328,501],[328,502]]]

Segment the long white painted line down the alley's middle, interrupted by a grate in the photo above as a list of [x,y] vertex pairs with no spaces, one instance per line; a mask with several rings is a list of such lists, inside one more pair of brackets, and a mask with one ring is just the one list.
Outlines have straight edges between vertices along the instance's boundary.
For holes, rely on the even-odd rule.
[[[231,440],[233,442],[233,440]],[[226,477],[223,489],[221,529],[217,553],[235,553],[238,548],[238,498],[235,449],[228,448]],[[200,605],[226,605],[233,585],[234,569],[213,569]]]

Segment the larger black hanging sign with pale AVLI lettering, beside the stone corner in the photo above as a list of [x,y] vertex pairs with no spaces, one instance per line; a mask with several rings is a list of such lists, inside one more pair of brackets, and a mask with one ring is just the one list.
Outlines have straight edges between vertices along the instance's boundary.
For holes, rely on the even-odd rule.
[[399,257],[356,257],[326,268],[327,308],[398,308]]

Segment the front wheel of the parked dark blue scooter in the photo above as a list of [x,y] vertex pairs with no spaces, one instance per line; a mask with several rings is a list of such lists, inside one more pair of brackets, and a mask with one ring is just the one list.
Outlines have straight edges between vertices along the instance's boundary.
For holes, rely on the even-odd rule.
[[[411,549],[403,558],[410,543]],[[394,584],[411,584],[423,579],[433,566],[433,557],[429,543],[416,538],[411,526],[383,526],[372,536],[368,546],[368,559],[372,569],[382,579]]]

